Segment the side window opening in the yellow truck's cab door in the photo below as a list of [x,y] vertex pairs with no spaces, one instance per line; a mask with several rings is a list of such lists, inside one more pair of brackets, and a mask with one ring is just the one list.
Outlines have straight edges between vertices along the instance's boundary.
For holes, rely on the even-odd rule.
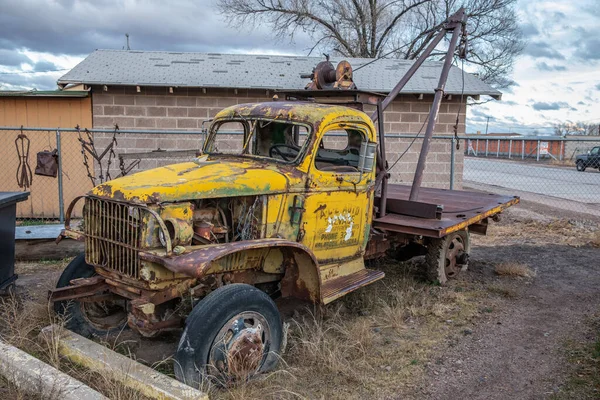
[[315,166],[327,172],[358,172],[360,148],[367,141],[361,129],[332,129],[323,135]]

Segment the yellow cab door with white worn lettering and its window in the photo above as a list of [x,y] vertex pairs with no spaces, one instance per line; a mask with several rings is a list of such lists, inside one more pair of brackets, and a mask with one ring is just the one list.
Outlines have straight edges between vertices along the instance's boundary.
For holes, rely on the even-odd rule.
[[374,146],[374,142],[372,128],[359,123],[331,124],[316,138],[301,242],[321,265],[361,257],[364,252],[372,219],[375,160],[368,157],[366,169],[359,162],[361,146]]

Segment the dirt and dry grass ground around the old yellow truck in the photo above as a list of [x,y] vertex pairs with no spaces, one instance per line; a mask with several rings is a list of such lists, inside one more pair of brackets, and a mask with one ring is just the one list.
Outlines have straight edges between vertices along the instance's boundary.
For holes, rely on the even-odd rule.
[[[290,341],[280,376],[211,395],[600,399],[588,376],[600,371],[600,350],[588,351],[600,348],[599,246],[598,219],[522,204],[473,236],[469,271],[446,287],[424,282],[419,260],[388,262],[375,265],[386,279],[324,310],[281,303]],[[507,263],[535,276],[498,276]],[[64,265],[19,263],[21,292],[45,290]],[[119,340],[153,364],[177,338]]]

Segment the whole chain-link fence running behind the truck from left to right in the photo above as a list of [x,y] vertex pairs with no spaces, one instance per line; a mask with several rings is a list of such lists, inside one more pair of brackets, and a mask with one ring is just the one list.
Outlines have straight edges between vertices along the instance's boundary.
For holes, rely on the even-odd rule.
[[[199,154],[199,131],[134,131],[0,127],[0,191],[29,191],[20,225],[61,223],[71,200],[124,174],[182,162]],[[422,137],[386,135],[391,183],[410,184]],[[458,144],[458,146],[457,146]],[[600,171],[577,170],[600,137],[461,138],[434,136],[425,186],[517,195],[575,212],[600,215]],[[56,175],[36,174],[38,155],[56,160]],[[600,162],[600,158],[598,159]],[[73,216],[81,216],[81,208]]]

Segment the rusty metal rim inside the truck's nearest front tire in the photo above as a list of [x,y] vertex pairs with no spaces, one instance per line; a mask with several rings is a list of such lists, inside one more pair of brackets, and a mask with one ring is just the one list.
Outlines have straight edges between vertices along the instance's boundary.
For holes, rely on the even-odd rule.
[[259,372],[271,344],[267,319],[255,311],[231,318],[210,349],[209,372],[227,379],[247,379]]

